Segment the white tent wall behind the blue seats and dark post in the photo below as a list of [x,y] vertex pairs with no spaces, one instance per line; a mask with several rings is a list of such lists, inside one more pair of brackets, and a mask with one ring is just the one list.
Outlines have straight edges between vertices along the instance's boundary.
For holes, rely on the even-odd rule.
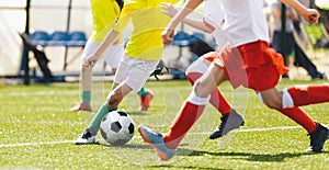
[[[82,31],[89,36],[92,30],[89,0],[0,0],[0,77],[24,75],[23,45],[18,33]],[[79,72],[81,63],[79,52],[81,48],[68,49],[67,59],[70,60],[70,65],[64,70],[66,48],[45,48],[50,60],[48,64],[50,70],[61,73]],[[33,55],[29,56],[29,67],[32,71],[36,68],[36,63]]]

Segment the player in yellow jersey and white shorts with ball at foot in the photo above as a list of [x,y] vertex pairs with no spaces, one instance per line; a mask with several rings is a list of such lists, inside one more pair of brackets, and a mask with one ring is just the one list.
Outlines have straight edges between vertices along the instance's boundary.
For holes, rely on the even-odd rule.
[[161,2],[175,3],[179,0],[125,0],[124,8],[117,23],[106,35],[99,48],[84,60],[86,67],[93,67],[102,54],[120,37],[120,34],[132,21],[134,30],[125,48],[117,71],[114,77],[113,90],[107,101],[100,107],[90,126],[76,140],[77,145],[95,141],[100,123],[103,116],[117,109],[124,97],[131,91],[139,91],[149,75],[159,64],[163,43],[161,32],[169,23],[170,18],[161,13]]

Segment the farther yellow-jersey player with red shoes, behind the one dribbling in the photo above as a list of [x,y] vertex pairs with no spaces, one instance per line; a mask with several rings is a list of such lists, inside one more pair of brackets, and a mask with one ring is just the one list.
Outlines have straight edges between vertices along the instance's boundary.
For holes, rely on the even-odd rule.
[[[86,60],[100,46],[106,34],[112,30],[123,7],[123,0],[90,0],[93,16],[93,33],[88,39],[83,49],[82,59]],[[102,54],[102,59],[112,68],[115,73],[121,57],[124,54],[124,45],[122,36],[109,46]],[[92,86],[92,68],[81,66],[81,102],[70,109],[72,112],[91,111],[91,86]],[[140,110],[145,111],[149,106],[152,93],[144,88],[138,92],[140,95]]]

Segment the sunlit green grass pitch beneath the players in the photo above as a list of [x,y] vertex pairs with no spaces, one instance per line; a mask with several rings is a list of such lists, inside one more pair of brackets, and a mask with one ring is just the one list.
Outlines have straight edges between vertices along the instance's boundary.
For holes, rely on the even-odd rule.
[[[279,89],[326,81],[283,80]],[[111,82],[93,84],[92,106],[105,101]],[[123,147],[106,144],[77,146],[75,139],[94,112],[69,112],[79,101],[78,83],[0,86],[0,169],[328,169],[329,144],[320,154],[306,154],[307,133],[281,113],[265,107],[253,91],[220,87],[224,95],[245,117],[245,126],[209,140],[219,114],[208,105],[201,120],[181,143],[177,156],[160,161],[137,132],[138,124],[167,132],[191,86],[188,81],[149,81],[155,98],[147,112],[139,112],[139,99],[131,93],[120,105],[135,121],[134,138]],[[303,107],[329,125],[329,104]],[[327,141],[328,143],[328,141]]]

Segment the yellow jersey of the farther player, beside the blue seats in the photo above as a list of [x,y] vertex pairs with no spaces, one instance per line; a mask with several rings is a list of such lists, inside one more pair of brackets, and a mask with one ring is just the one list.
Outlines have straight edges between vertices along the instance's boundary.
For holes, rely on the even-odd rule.
[[[121,9],[115,0],[90,0],[90,4],[93,18],[91,38],[101,44],[106,34],[113,29]],[[122,42],[122,38],[120,42]]]

